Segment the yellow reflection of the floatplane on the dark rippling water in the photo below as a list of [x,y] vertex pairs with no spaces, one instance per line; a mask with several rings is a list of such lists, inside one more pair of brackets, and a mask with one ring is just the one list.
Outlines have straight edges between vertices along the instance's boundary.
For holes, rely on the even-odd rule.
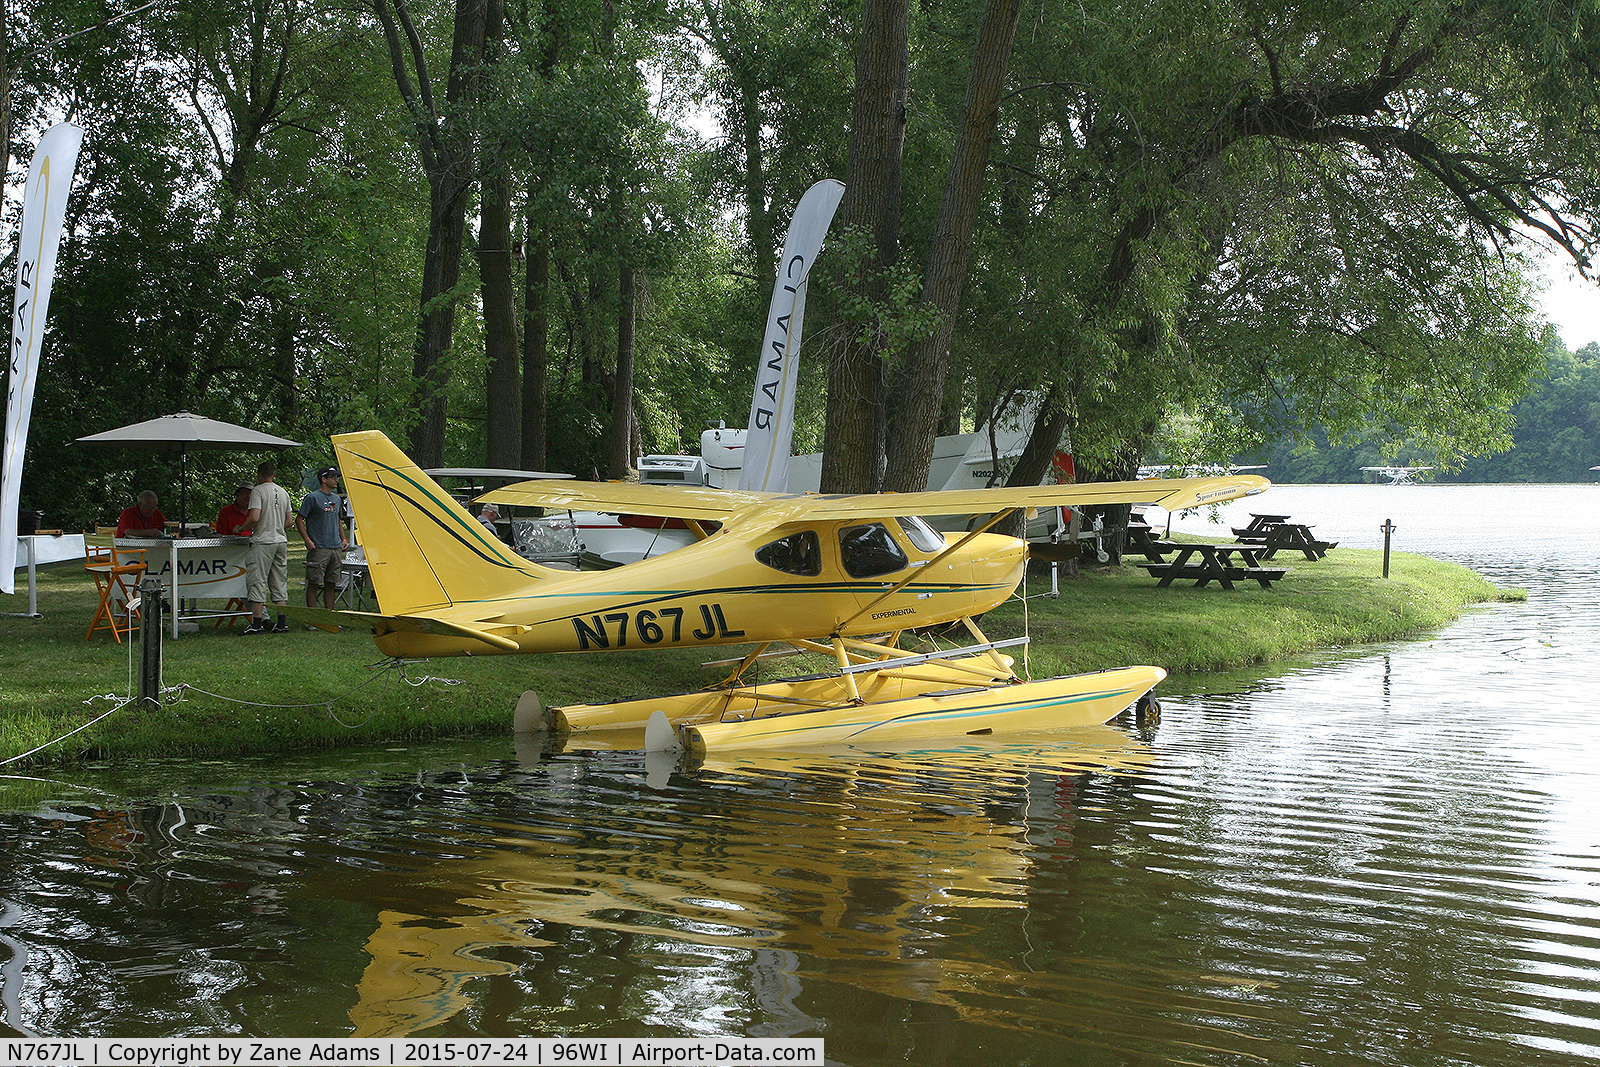
[[[355,1035],[470,1014],[488,995],[480,979],[560,949],[541,936],[560,926],[734,952],[749,989],[728,998],[754,995],[768,1021],[797,1027],[819,1025],[795,1003],[808,979],[981,1014],[973,989],[1019,979],[965,953],[952,925],[982,921],[973,909],[1026,907],[1030,832],[1070,840],[1085,776],[1138,774],[1152,758],[1110,726],[894,755],[762,753],[694,771],[704,790],[749,801],[720,808],[714,825],[630,808],[650,821],[648,849],[637,822],[502,829],[472,856],[432,859],[403,896],[392,885],[381,894],[389,907],[365,945]],[[854,965],[818,963],[829,960]]]

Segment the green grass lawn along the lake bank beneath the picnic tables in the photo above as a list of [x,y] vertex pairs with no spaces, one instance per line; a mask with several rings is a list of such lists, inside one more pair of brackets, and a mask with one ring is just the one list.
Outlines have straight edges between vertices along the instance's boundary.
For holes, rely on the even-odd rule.
[[[1078,673],[1125,664],[1170,672],[1216,670],[1266,662],[1315,648],[1357,645],[1437,629],[1467,605],[1517,598],[1472,571],[1427,557],[1395,555],[1390,579],[1381,553],[1334,550],[1323,560],[1288,561],[1272,589],[1235,590],[1179,582],[1158,589],[1134,566],[1093,569],[1062,579],[1059,598],[1019,600],[989,613],[990,640],[1032,633],[1034,677]],[[291,598],[304,595],[291,560]],[[1046,592],[1048,576],[1030,576],[1029,593]],[[94,585],[82,566],[38,574],[43,617],[0,619],[0,763],[62,763],[118,755],[227,757],[426,741],[510,729],[525,689],[546,704],[608,701],[696,689],[720,678],[706,659],[736,656],[739,646],[606,653],[603,656],[483,656],[386,662],[365,632],[293,632],[240,637],[202,625],[168,638],[158,710],[122,707],[138,691],[138,643],[109,632],[85,640]],[[0,611],[27,608],[26,574]],[[1024,622],[1026,616],[1026,622]],[[960,640],[957,643],[966,643]],[[776,673],[811,669],[779,661]],[[114,710],[120,709],[120,710]],[[50,744],[26,760],[13,757]]]

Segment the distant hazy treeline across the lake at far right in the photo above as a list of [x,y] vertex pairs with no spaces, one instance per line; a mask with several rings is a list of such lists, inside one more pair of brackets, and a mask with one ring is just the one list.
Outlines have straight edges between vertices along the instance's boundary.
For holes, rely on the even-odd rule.
[[[1595,482],[1600,472],[1600,344],[1568,352],[1550,344],[1544,373],[1533,392],[1512,406],[1512,446],[1494,456],[1469,459],[1459,470],[1432,470],[1435,482]],[[1424,427],[1410,437],[1381,430],[1330,442],[1317,434],[1307,442],[1283,442],[1264,462],[1274,482],[1370,482],[1362,467],[1437,466]],[[1394,442],[1398,442],[1397,445]]]

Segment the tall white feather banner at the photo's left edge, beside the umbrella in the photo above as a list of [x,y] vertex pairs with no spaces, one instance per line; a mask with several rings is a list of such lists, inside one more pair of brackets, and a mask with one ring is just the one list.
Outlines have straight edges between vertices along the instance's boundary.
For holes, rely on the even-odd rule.
[[45,312],[56,280],[56,250],[67,213],[67,190],[78,165],[83,130],[59,123],[45,131],[22,187],[22,229],[16,253],[16,299],[11,307],[11,355],[0,453],[0,592],[16,592],[16,509],[22,493],[22,453],[34,413]]

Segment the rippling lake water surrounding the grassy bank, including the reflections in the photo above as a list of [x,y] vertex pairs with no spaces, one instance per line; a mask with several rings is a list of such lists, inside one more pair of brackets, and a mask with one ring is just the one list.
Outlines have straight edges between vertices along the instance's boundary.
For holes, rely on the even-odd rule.
[[1600,486],[1280,486],[1234,525],[1251,510],[1349,547],[1389,518],[1395,550],[1530,595],[1168,680],[1150,737],[693,769],[494,739],[14,781],[0,1032],[1595,1062]]

